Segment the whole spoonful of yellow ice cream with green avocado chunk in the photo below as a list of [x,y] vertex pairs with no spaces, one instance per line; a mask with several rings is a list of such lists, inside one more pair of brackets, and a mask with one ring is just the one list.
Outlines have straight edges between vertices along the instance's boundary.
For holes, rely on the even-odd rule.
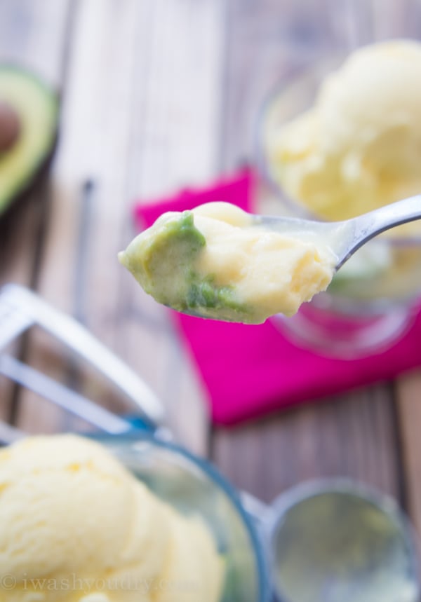
[[326,289],[335,256],[323,240],[253,224],[229,203],[163,214],[119,254],[159,303],[215,320],[259,324],[293,315]]

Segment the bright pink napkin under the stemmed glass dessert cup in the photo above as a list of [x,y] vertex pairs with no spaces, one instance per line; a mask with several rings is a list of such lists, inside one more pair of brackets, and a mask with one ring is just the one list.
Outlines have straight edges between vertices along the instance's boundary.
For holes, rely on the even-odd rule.
[[[138,203],[140,229],[166,211],[226,200],[253,210],[253,174],[246,170],[206,189]],[[202,320],[168,310],[178,324],[209,394],[213,421],[229,425],[300,402],[385,381],[421,365],[421,314],[399,343],[357,360],[330,359],[296,347],[272,320],[244,325]]]

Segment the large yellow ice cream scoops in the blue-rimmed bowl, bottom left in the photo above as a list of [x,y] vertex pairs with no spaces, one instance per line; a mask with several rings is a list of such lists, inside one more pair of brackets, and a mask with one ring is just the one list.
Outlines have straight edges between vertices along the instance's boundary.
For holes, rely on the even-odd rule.
[[1,450],[0,525],[0,602],[220,599],[206,525],[88,439],[29,437]]

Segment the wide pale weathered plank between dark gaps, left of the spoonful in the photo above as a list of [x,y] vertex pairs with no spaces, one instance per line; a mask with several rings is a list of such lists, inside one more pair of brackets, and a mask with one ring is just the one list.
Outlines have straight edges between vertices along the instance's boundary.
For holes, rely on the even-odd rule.
[[[215,169],[221,15],[219,1],[79,3],[39,271],[41,294],[145,378],[176,435],[203,452],[208,420],[191,363],[166,311],[142,294],[116,254],[133,237],[135,199],[203,182]],[[48,346],[51,352],[40,354],[46,340],[32,338],[29,360],[39,369],[51,369],[55,348]],[[55,378],[66,382],[68,375],[67,362],[58,364]],[[83,370],[72,382],[93,390]],[[119,398],[102,393],[100,399],[127,409]],[[30,394],[22,397],[19,418],[35,430],[47,422],[63,427],[62,417]]]

